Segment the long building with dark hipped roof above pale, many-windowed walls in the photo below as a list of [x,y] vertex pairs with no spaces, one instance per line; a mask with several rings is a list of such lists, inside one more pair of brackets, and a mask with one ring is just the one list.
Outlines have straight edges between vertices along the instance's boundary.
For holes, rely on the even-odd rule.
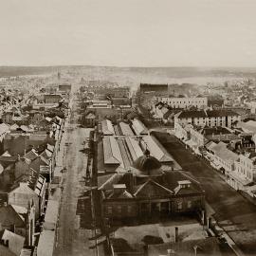
[[184,110],[175,115],[174,121],[179,123],[192,123],[198,126],[231,127],[240,121],[241,116],[229,109],[220,110]]

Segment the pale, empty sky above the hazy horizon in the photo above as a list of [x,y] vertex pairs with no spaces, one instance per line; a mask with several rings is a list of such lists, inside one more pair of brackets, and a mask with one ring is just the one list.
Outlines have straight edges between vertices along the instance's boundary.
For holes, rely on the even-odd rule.
[[0,65],[256,66],[255,0],[0,0]]

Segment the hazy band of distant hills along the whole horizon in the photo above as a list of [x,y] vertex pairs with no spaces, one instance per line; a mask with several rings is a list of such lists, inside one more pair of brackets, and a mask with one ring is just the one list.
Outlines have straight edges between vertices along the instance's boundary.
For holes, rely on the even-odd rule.
[[137,86],[140,82],[205,84],[237,78],[256,79],[256,67],[117,67],[92,65],[0,66],[0,77],[70,72],[84,80],[119,82]]

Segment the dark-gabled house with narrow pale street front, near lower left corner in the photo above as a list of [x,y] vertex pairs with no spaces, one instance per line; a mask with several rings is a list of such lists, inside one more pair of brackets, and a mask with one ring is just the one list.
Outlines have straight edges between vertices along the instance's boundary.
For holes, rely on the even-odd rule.
[[[35,212],[33,203],[28,202],[26,207],[5,203],[0,207],[0,223],[2,229],[25,237],[27,246],[34,245]],[[9,236],[7,233],[6,235]]]

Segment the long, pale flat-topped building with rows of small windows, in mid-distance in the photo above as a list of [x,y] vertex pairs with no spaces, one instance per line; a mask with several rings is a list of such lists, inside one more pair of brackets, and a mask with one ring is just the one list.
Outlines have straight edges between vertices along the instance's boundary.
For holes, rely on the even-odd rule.
[[157,102],[168,104],[172,108],[189,108],[194,106],[196,108],[205,108],[208,105],[206,97],[156,97]]

